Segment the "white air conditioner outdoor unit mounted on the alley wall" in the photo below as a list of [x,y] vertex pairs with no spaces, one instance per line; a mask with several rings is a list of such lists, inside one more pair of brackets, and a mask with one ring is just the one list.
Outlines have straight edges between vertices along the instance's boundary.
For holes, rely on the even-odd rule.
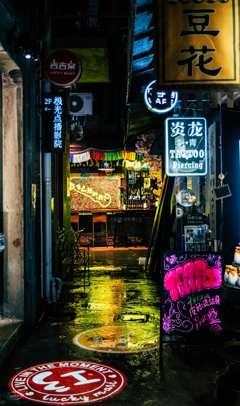
[[70,93],[70,114],[74,117],[93,114],[92,93]]

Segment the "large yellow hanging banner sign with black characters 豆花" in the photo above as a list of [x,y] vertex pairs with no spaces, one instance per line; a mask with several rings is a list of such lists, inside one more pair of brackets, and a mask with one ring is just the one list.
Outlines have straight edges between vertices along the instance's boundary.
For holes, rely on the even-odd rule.
[[238,0],[159,0],[160,82],[239,84]]

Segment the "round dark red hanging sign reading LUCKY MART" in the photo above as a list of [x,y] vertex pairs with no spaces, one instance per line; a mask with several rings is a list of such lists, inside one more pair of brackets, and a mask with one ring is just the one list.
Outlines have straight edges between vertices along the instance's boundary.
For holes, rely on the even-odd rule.
[[53,52],[46,60],[45,72],[51,83],[59,87],[68,87],[81,77],[82,65],[73,52],[59,50]]

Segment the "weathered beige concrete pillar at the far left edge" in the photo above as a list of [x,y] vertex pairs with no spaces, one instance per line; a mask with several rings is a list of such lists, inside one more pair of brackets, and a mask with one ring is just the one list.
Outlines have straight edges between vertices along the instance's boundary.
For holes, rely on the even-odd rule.
[[[8,69],[12,67],[10,71]],[[7,69],[6,69],[7,68]],[[21,71],[0,49],[2,72],[3,316],[24,317],[23,286],[23,86]],[[11,192],[11,191],[14,191]]]

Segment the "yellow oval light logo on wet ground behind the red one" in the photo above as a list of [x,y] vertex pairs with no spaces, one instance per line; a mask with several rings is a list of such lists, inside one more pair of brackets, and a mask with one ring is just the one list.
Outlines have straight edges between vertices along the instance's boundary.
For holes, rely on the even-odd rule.
[[[142,328],[140,327],[142,326]],[[83,331],[74,344],[98,352],[139,352],[159,347],[159,332],[153,323],[106,326]]]

